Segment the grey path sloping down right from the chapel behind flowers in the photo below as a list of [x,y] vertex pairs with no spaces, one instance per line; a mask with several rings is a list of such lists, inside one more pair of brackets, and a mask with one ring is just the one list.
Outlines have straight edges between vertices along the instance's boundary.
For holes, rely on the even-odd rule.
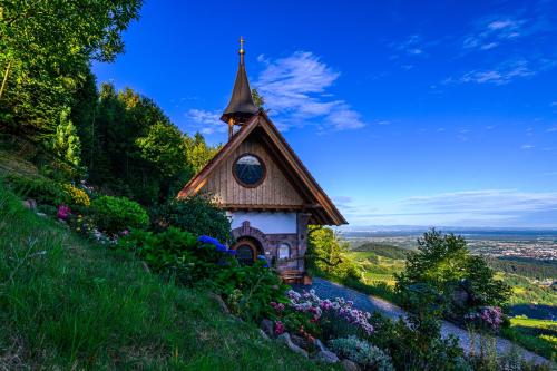
[[[322,279],[313,279],[313,284],[309,286],[297,286],[295,290],[310,290],[313,289],[315,290],[315,293],[320,297],[329,297],[333,299],[336,296],[342,296],[346,300],[351,300],[354,302],[354,307],[362,310],[362,311],[368,311],[368,312],[375,312],[379,311],[385,316],[390,319],[397,320],[401,315],[405,315],[405,312],[400,309],[399,306],[375,297],[375,296],[369,296],[365,294],[362,294],[355,290],[344,287],[343,285],[322,280]],[[465,349],[467,352],[470,350],[470,338],[468,335],[468,332],[466,330],[462,330],[458,326],[456,326],[452,323],[443,321],[441,325],[441,334],[443,336],[447,336],[448,334],[452,334],[459,339],[460,346]],[[497,340],[497,352],[499,354],[507,353],[511,346],[512,343],[508,341],[507,339],[502,338],[496,338]],[[538,364],[540,363],[548,363],[549,361],[538,354],[535,354],[530,351],[527,351],[524,348],[517,346],[518,351],[522,354],[522,357],[528,360],[528,361],[534,361]],[[555,367],[555,364],[554,364]]]

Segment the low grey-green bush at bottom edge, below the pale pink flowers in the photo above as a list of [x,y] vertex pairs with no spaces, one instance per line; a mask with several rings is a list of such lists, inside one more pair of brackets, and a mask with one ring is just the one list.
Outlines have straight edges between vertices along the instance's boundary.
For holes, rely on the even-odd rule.
[[336,354],[360,363],[367,369],[371,368],[378,371],[394,370],[391,358],[387,353],[356,336],[333,339],[329,341],[329,346]]

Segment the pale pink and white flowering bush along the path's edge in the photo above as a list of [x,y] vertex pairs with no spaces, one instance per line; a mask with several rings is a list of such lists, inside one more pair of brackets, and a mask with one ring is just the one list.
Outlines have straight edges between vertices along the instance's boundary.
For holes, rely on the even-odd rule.
[[[302,294],[291,290],[287,293],[290,305],[299,312],[311,315],[312,322],[320,322],[329,335],[350,333],[355,330],[362,335],[370,335],[373,326],[369,323],[371,314],[353,307],[352,301],[335,297],[333,301],[321,300],[314,290],[304,291]],[[340,321],[339,321],[340,320]],[[349,324],[348,328],[343,326]]]

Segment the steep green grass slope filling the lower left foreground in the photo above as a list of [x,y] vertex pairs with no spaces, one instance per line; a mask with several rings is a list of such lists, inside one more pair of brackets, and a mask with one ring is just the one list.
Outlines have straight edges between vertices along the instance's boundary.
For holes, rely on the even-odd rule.
[[0,370],[316,370],[0,187]]

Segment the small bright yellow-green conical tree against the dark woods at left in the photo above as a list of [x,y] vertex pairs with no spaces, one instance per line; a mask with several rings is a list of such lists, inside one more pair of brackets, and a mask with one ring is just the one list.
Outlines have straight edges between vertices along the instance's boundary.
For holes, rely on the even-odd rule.
[[74,123],[69,119],[69,108],[60,114],[60,120],[56,127],[52,149],[65,160],[79,166],[81,155],[81,144],[77,135]]

